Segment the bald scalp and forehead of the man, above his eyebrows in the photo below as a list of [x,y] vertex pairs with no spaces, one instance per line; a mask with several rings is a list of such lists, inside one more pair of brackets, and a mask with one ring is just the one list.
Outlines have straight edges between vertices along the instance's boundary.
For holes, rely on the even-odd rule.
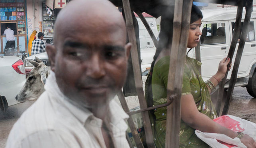
[[119,39],[125,44],[125,23],[111,2],[108,0],[72,0],[58,14],[55,22],[55,44],[70,34],[84,34],[88,31],[94,34],[94,32],[106,30],[115,32],[116,37],[122,34],[123,37]]

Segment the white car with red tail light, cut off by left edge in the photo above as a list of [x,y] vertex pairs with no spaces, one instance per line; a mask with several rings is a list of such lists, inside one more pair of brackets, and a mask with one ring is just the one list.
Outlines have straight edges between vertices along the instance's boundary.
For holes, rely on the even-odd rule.
[[0,108],[19,103],[15,97],[25,84],[23,61],[17,56],[0,56]]

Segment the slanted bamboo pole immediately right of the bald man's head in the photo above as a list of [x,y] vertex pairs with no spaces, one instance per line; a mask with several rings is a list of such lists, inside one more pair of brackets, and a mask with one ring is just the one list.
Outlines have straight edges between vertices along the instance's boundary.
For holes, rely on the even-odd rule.
[[[131,49],[131,59],[133,63],[133,73],[135,77],[135,87],[139,98],[139,103],[141,106],[141,109],[147,108],[146,99],[144,96],[143,91],[143,85],[142,85],[142,78],[141,78],[141,68],[139,67],[139,58],[137,53],[137,45],[136,45],[136,37],[135,37],[135,30],[133,26],[133,19],[131,15],[131,6],[129,0],[122,0],[123,2],[123,10],[125,12],[125,18],[126,18],[126,27],[127,27],[127,33],[130,43],[132,44]],[[143,118],[143,124],[145,129],[145,135],[146,135],[146,143],[148,148],[154,148],[154,140],[153,140],[153,133],[151,129],[151,123],[149,119],[149,113],[148,112],[142,112],[141,113]]]

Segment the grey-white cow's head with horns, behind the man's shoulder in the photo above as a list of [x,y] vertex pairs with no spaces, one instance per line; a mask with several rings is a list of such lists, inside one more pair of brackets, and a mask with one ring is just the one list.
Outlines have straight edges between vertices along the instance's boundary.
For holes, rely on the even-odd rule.
[[16,95],[16,100],[18,102],[25,102],[27,99],[37,99],[45,91],[44,86],[50,72],[50,67],[46,66],[36,56],[35,59],[37,62],[28,59],[28,61],[33,64],[35,68],[31,70],[27,76],[24,86],[18,95]]

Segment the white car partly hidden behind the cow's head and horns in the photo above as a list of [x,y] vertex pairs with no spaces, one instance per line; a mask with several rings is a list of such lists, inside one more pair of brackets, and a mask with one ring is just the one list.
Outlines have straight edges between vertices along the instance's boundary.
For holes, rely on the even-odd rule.
[[39,53],[39,54],[36,54],[36,55],[32,55],[32,56],[29,56],[27,58],[25,58],[25,63],[24,63],[24,66],[25,66],[25,71],[26,71],[26,76],[29,74],[29,72],[34,68],[33,67],[33,64],[31,64],[27,59],[31,59],[31,60],[35,60],[35,56],[37,58],[39,58],[40,60],[43,61],[43,63],[46,65],[46,66],[51,66],[51,63],[48,59],[48,56],[47,56],[47,53]]

